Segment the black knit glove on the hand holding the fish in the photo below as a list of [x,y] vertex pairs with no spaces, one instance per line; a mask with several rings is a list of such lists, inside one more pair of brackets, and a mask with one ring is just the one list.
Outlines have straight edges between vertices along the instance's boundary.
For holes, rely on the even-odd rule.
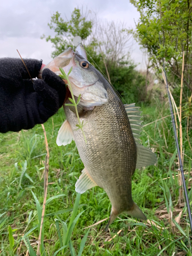
[[[42,61],[24,59],[32,78],[37,77]],[[62,106],[66,86],[49,69],[34,82],[21,59],[0,59],[0,132],[18,132],[44,123]]]

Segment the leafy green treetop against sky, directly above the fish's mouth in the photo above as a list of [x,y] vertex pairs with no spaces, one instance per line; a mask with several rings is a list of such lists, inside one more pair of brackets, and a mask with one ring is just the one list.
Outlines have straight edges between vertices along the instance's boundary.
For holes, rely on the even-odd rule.
[[[92,32],[93,22],[87,20],[87,14],[83,15],[80,9],[75,8],[71,14],[71,19],[65,21],[59,12],[56,12],[51,17],[51,22],[48,23],[50,29],[53,29],[56,35],[46,37],[47,41],[51,41],[55,51],[52,52],[52,57],[58,56],[65,51],[67,47],[72,46],[73,37],[78,35],[82,39],[86,39]],[[45,38],[43,35],[41,38]]]

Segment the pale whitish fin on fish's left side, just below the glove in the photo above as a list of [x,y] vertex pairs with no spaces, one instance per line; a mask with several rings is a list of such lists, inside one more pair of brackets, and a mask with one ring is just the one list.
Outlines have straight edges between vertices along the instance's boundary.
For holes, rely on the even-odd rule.
[[68,120],[65,120],[58,131],[56,143],[58,146],[66,146],[67,144],[70,144],[72,140],[73,132],[71,125],[69,124]]

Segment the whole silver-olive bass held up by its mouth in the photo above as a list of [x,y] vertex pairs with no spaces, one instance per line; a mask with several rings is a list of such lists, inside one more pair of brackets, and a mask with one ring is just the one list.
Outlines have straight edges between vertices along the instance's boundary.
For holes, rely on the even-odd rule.
[[[84,164],[84,169],[75,184],[75,190],[82,194],[95,186],[104,189],[112,204],[105,232],[122,212],[146,220],[146,216],[132,198],[132,176],[136,168],[155,164],[157,157],[150,148],[140,143],[142,121],[139,107],[136,107],[135,103],[125,105],[122,103],[111,84],[88,61],[82,46],[78,46],[76,52],[68,48],[67,53],[73,56],[68,62],[63,60],[62,68],[67,72],[73,67],[69,76],[73,86],[81,89],[91,88],[93,81],[96,81],[94,86],[98,97],[100,97],[99,93],[102,96],[103,92],[107,94],[105,97],[107,100],[100,102],[99,105],[94,105],[93,97],[84,95],[84,102],[87,101],[89,106],[90,101],[91,109],[89,107],[86,109],[87,105],[84,106],[84,102],[80,101],[81,108],[85,107],[81,112],[80,121],[84,123],[82,129],[87,142],[82,131],[77,129],[78,119],[75,111],[70,109],[70,106],[63,105],[67,119],[59,129],[57,145],[66,145],[75,140]],[[68,102],[70,103],[69,100],[66,103]]]

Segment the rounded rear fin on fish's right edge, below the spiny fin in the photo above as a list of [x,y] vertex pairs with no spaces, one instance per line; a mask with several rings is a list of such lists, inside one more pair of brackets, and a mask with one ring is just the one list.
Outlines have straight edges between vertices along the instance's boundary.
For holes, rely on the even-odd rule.
[[146,167],[148,165],[154,165],[157,162],[156,155],[150,150],[150,148],[136,143],[137,145],[137,163],[136,168]]

